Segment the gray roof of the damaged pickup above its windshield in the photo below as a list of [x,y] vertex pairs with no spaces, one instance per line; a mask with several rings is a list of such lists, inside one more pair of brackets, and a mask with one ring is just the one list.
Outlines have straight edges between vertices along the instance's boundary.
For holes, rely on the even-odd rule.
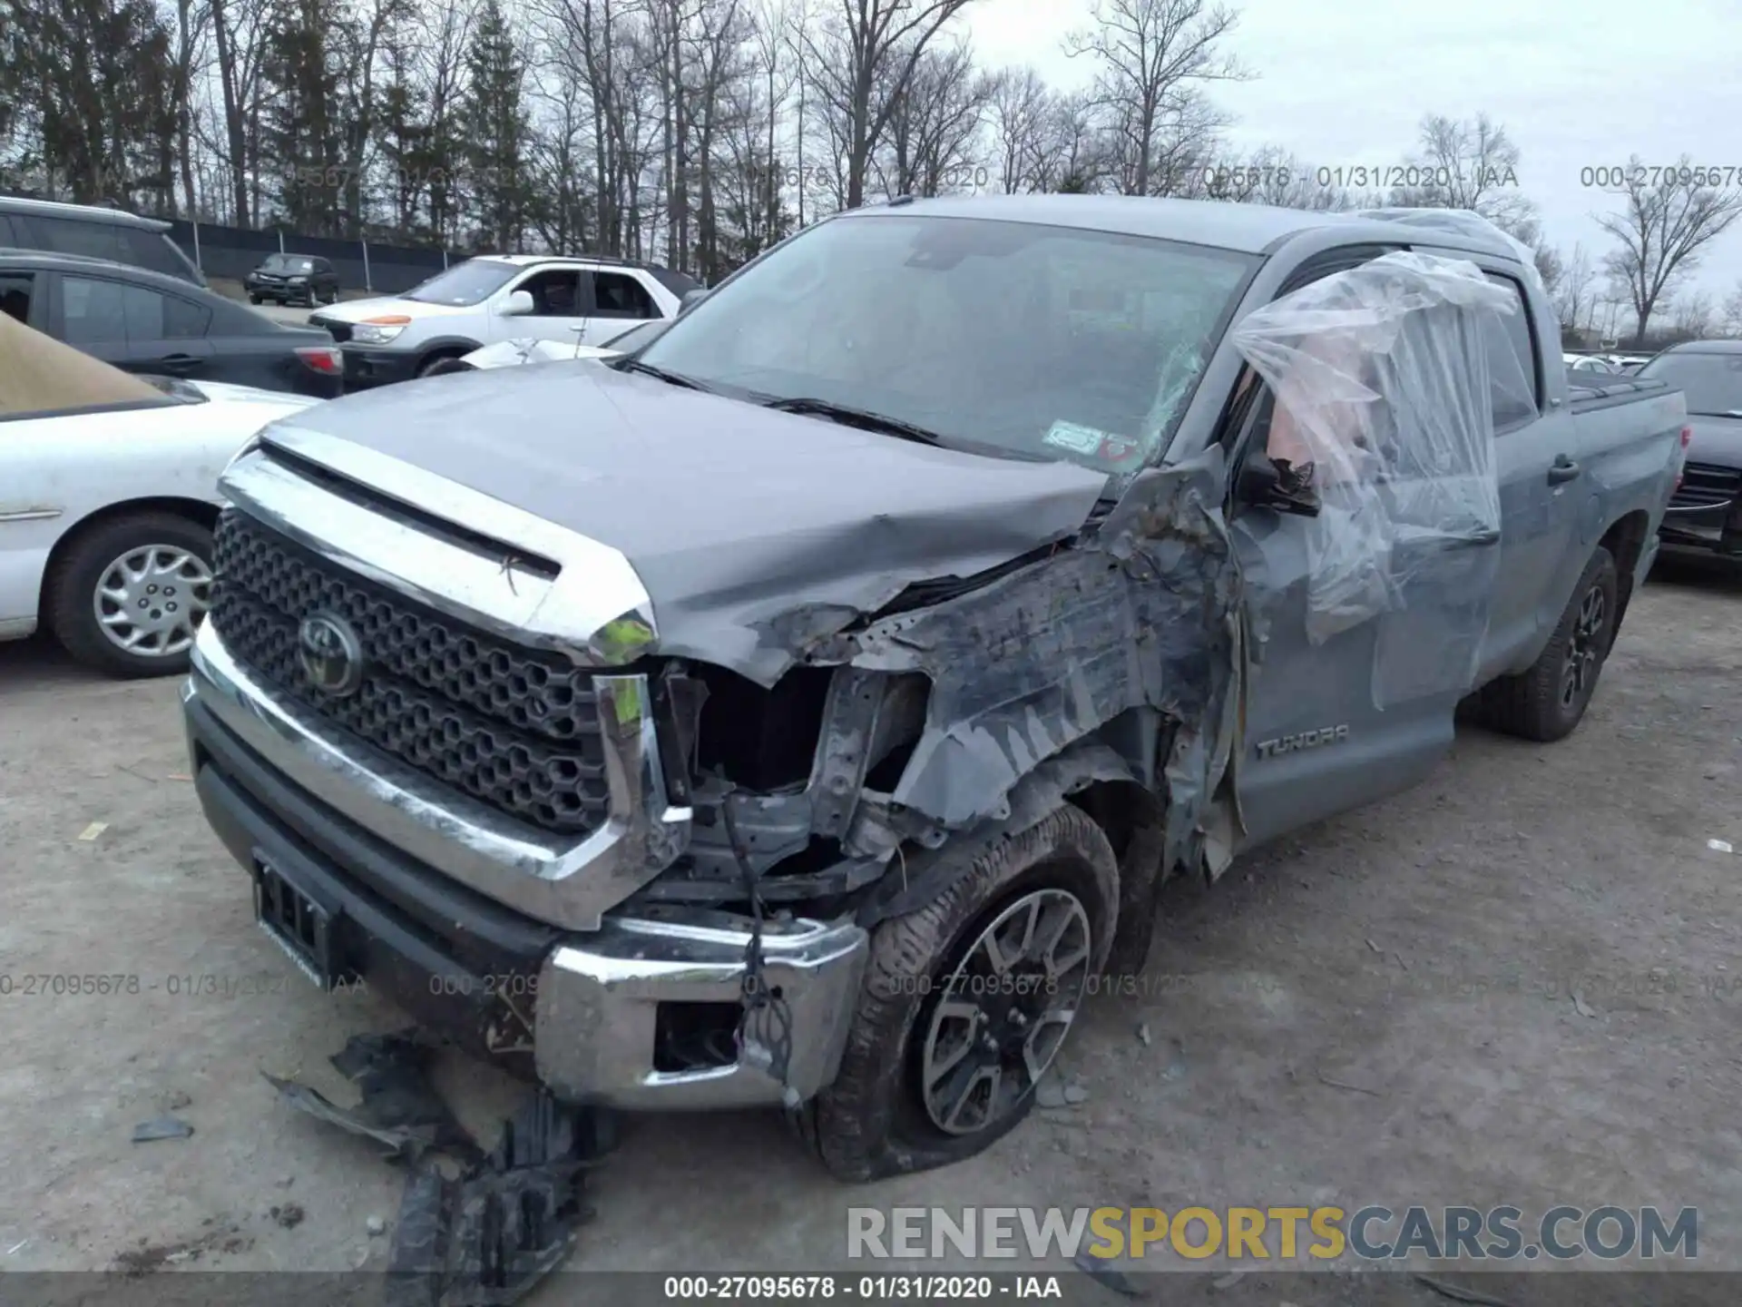
[[[1120,232],[1193,246],[1237,249],[1266,254],[1301,232],[1326,227],[1347,230],[1350,242],[1406,244],[1423,242],[1423,225],[1362,218],[1352,213],[1313,209],[1279,209],[1268,204],[1233,204],[1228,200],[1172,200],[1138,195],[944,195],[925,200],[897,200],[850,209],[841,216],[887,213],[925,213],[941,218],[991,218],[1010,223],[1045,223],[1096,232]],[[1493,237],[1451,227],[1434,227],[1434,244],[1516,260],[1505,237]]]

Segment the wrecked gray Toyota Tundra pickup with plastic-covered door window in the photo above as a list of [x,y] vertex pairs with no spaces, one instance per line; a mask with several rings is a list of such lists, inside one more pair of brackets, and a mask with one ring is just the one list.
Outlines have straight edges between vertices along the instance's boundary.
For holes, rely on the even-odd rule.
[[1679,392],[1458,214],[894,202],[282,418],[183,692],[261,925],[557,1096],[1010,1129],[1171,875],[1585,711]]

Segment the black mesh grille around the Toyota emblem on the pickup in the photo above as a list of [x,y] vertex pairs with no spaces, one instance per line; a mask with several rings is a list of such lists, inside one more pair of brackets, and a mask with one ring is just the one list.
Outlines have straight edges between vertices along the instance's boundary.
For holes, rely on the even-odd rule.
[[[207,620],[225,648],[303,708],[545,830],[604,823],[587,673],[413,605],[235,509],[218,519],[216,573]],[[322,694],[303,673],[298,626],[315,612],[357,631],[366,671],[354,695]]]

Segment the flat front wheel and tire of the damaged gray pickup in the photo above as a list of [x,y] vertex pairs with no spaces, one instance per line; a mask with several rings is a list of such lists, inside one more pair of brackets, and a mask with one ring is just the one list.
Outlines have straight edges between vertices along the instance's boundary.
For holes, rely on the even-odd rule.
[[840,1180],[946,1166],[1014,1129],[1106,964],[1118,859],[1082,809],[944,857],[944,891],[873,932],[840,1072],[800,1119]]

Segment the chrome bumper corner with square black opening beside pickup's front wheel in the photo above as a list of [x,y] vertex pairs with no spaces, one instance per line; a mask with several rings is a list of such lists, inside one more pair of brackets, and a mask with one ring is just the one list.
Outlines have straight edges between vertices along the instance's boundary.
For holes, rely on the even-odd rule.
[[556,948],[538,974],[538,1079],[575,1101],[629,1110],[763,1107],[791,1087],[827,1086],[841,1061],[869,938],[854,922],[763,924],[763,983],[791,1012],[784,1084],[756,1051],[697,1070],[655,1070],[658,1006],[732,1004],[744,983],[749,922],[707,910],[608,917]]

